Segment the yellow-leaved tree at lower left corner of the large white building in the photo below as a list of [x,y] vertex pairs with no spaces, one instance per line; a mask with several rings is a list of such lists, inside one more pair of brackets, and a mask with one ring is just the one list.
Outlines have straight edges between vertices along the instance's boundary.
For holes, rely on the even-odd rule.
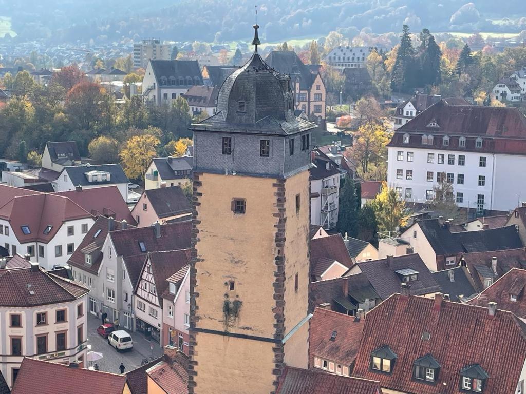
[[370,203],[375,211],[378,231],[396,231],[407,225],[409,210],[394,188],[382,182],[382,190]]

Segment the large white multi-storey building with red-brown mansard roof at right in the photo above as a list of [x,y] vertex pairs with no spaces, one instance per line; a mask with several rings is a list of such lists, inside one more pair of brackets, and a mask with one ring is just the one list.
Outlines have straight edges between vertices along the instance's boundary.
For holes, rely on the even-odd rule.
[[526,196],[526,172],[513,170],[526,168],[526,118],[516,108],[439,101],[396,130],[388,155],[388,183],[409,202],[431,200],[442,176],[457,205],[480,215]]

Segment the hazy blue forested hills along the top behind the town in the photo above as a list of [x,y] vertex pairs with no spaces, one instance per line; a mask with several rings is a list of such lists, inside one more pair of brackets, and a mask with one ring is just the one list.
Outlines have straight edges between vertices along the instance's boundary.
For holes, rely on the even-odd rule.
[[[249,38],[254,2],[246,0],[26,0],[1,1],[0,17],[26,41],[95,43],[159,37],[176,41]],[[352,38],[360,30],[399,32],[427,27],[434,32],[519,33],[526,29],[523,0],[264,0],[258,23],[267,41],[325,36],[339,30]],[[522,13],[522,15],[520,15]]]

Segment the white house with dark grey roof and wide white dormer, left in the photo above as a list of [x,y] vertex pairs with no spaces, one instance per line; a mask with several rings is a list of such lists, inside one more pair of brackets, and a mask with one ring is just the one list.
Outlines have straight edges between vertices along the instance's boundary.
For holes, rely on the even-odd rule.
[[64,167],[52,182],[57,192],[75,190],[77,186],[83,189],[115,185],[124,201],[128,201],[129,179],[120,164],[83,164]]

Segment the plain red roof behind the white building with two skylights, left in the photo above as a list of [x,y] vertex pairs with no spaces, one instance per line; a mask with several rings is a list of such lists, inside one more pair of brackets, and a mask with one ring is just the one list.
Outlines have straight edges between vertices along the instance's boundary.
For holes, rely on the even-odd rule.
[[53,194],[69,198],[94,216],[112,216],[115,220],[126,220],[128,224],[136,224],[128,209],[128,204],[115,185]]

